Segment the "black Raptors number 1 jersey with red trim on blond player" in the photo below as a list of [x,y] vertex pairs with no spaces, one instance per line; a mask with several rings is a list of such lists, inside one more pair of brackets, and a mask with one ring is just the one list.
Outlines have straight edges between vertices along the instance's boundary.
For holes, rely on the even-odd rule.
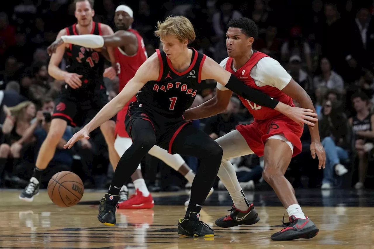
[[178,118],[192,105],[200,89],[201,69],[206,56],[191,49],[190,67],[182,73],[175,71],[165,52],[156,49],[160,60],[159,79],[147,82],[137,93],[141,107],[165,117]]

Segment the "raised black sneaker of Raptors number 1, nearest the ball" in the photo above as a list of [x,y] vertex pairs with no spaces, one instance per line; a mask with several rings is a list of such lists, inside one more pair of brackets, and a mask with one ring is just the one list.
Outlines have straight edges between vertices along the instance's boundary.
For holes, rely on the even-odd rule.
[[116,207],[118,207],[119,196],[112,196],[108,193],[102,197],[99,205],[99,221],[107,226],[116,225]]

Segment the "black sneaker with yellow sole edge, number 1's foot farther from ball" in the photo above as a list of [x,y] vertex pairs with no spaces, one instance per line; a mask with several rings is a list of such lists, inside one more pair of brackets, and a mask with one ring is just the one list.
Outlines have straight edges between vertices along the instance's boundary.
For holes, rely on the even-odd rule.
[[214,237],[213,229],[199,221],[199,217],[199,213],[190,212],[188,219],[179,219],[178,234],[188,237]]

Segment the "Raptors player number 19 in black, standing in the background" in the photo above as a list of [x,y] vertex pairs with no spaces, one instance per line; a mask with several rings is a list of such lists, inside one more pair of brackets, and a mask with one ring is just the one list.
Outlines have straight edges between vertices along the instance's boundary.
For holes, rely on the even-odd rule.
[[[93,0],[75,0],[74,4],[77,24],[61,30],[57,39],[79,34],[113,34],[113,30],[108,25],[92,21]],[[114,53],[110,49],[108,48],[108,52],[113,55],[114,61]],[[66,71],[58,67],[63,56],[67,60]],[[43,170],[52,160],[56,148],[62,148],[65,144],[62,135],[66,126],[82,126],[87,117],[95,115],[108,102],[103,87],[104,57],[98,51],[71,44],[59,46],[50,58],[48,73],[57,80],[65,80],[65,84],[56,101],[50,130],[40,148],[34,174],[19,196],[20,199],[28,202],[33,201],[34,196],[39,193]],[[116,166],[119,156],[114,150],[115,122],[109,120],[100,128],[108,144],[110,161]]]

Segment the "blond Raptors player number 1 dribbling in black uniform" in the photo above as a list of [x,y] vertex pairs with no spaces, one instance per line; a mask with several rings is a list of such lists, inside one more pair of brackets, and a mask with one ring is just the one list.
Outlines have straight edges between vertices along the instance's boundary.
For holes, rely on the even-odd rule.
[[[156,144],[171,154],[180,153],[200,159],[186,215],[178,222],[178,233],[212,237],[214,231],[199,221],[199,212],[217,176],[222,148],[207,134],[185,122],[183,117],[183,112],[191,106],[200,88],[201,80],[215,79],[244,98],[279,110],[297,122],[303,122],[305,113],[245,86],[217,62],[188,48],[188,43],[195,39],[195,33],[187,18],[175,16],[159,22],[156,35],[163,43],[163,51],[157,50],[150,56],[119,95],[74,134],[64,148],[71,148],[79,139],[88,139],[93,129],[113,117],[136,95],[137,101],[130,105],[126,117],[126,130],[133,144],[121,157],[110,189],[101,199],[99,221],[105,225],[116,224],[120,186],[130,178],[142,157]],[[105,38],[101,39],[104,42]]]

